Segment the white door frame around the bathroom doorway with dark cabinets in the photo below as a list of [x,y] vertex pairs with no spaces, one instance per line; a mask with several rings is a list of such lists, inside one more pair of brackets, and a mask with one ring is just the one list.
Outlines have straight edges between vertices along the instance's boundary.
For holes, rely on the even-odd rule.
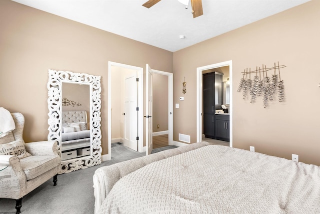
[[230,114],[230,141],[229,146],[232,147],[232,60],[216,63],[212,65],[202,66],[196,68],[196,141],[201,142],[202,141],[202,71],[208,70],[208,69],[214,69],[219,68],[223,66],[229,66],[229,81],[230,81],[230,104],[228,108],[228,112]]

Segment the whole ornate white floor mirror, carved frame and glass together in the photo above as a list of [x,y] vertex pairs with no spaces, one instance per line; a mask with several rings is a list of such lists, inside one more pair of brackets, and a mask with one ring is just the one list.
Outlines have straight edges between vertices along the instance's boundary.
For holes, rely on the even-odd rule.
[[[60,174],[100,164],[100,76],[50,69],[48,73],[48,140],[58,142],[62,159]],[[89,104],[73,100],[69,92],[62,93],[62,88],[71,88],[68,90],[80,95],[78,99],[82,101],[87,94]],[[89,92],[81,92],[83,89]]]

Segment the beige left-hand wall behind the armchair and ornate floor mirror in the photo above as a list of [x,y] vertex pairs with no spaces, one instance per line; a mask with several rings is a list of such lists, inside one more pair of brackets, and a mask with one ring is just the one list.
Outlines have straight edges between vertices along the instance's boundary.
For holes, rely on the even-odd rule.
[[108,61],[142,68],[148,63],[166,72],[173,68],[172,52],[9,0],[0,1],[0,32],[0,106],[24,115],[25,142],[47,139],[48,69],[101,76],[101,140],[106,154]]

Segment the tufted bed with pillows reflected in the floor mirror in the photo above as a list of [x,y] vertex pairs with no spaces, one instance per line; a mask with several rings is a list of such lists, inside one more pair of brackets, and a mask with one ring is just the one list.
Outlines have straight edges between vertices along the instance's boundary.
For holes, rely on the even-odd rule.
[[86,111],[62,111],[61,145],[62,151],[90,146]]

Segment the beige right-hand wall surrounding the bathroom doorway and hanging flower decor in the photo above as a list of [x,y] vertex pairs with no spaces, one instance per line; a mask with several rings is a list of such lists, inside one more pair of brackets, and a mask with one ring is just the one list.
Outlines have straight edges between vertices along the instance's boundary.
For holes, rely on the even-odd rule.
[[[173,140],[178,133],[196,140],[196,68],[232,60],[233,147],[320,165],[320,1],[311,1],[269,18],[173,53]],[[263,108],[261,99],[251,104],[237,92],[241,72],[274,62],[284,81],[285,102]],[[185,76],[184,101],[180,84]],[[187,118],[187,119],[185,119]]]

